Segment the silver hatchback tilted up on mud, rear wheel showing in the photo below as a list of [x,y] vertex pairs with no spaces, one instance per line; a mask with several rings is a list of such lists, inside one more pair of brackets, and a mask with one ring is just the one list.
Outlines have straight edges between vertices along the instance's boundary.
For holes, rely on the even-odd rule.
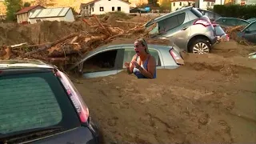
[[190,53],[210,53],[217,42],[214,26],[192,6],[154,18],[146,23],[151,38],[170,39],[180,49]]

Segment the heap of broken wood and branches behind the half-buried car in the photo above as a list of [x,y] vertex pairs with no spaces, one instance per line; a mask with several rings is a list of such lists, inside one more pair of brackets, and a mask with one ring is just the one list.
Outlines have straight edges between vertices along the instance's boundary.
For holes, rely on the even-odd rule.
[[[113,26],[110,22],[118,26]],[[144,23],[142,22],[126,22],[122,21],[122,19],[114,20],[114,18],[110,20],[110,17],[107,15],[101,19],[92,16],[90,18],[82,18],[81,22],[61,23],[57,22],[56,24],[62,25],[60,26],[62,27],[61,32],[57,33],[56,31],[60,30],[54,30],[54,28],[50,31],[49,27],[51,25],[49,25],[48,28],[45,26],[47,30],[42,30],[42,27],[40,28],[37,39],[35,38],[37,34],[34,34],[36,32],[33,33],[33,30],[30,30],[32,31],[30,32],[30,38],[27,36],[28,34],[21,37],[27,37],[24,41],[26,39],[30,39],[30,41],[27,40],[15,45],[0,45],[0,59],[37,58],[66,69],[66,66],[78,62],[88,51],[111,42],[114,38],[146,37],[149,32],[144,30]],[[31,27],[36,26],[31,25],[30,29],[32,29]],[[28,30],[25,31],[27,32]],[[50,36],[48,33],[56,33],[54,36],[58,39],[49,42]]]

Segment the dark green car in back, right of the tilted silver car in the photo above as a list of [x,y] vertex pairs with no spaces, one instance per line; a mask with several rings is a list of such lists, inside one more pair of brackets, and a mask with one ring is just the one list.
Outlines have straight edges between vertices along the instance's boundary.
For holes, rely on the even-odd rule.
[[241,18],[227,18],[221,17],[214,21],[214,23],[218,23],[220,26],[247,26],[250,22],[241,19]]

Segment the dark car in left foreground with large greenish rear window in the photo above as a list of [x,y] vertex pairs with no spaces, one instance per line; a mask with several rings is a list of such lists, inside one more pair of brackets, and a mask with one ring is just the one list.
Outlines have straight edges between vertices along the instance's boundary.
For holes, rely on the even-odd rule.
[[38,60],[0,61],[0,143],[98,143],[70,78]]

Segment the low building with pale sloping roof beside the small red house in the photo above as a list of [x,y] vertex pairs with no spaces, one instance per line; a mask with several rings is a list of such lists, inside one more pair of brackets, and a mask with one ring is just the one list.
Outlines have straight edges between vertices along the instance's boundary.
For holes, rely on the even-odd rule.
[[74,14],[70,7],[35,10],[33,14],[30,14],[29,22],[31,24],[42,21],[74,22]]

